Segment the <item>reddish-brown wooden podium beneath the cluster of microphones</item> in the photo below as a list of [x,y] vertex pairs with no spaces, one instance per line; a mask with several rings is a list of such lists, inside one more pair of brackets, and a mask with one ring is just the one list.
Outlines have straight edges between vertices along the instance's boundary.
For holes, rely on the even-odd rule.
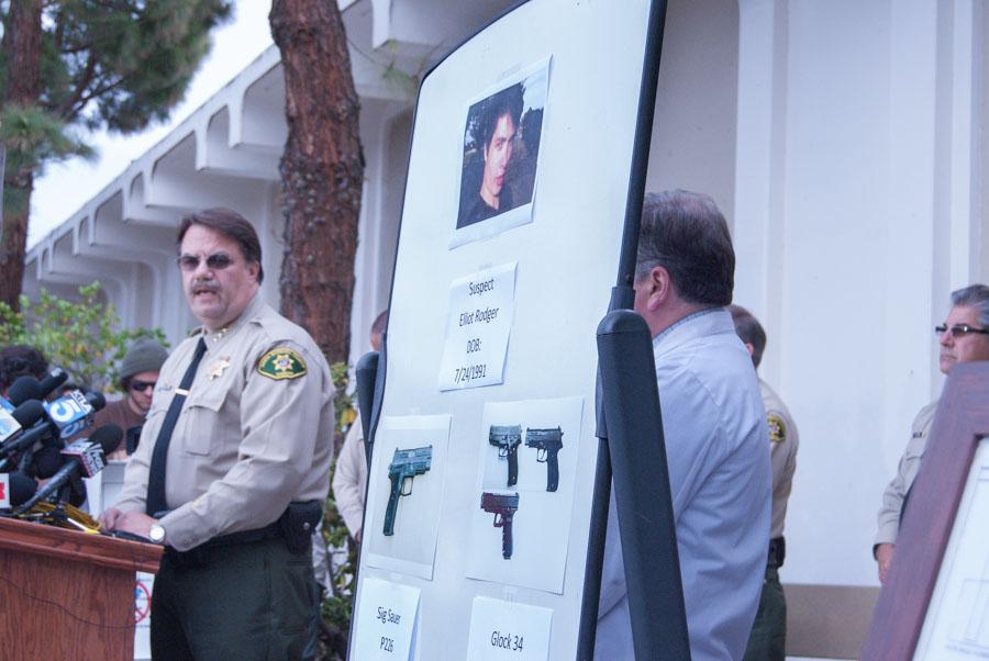
[[0,518],[0,656],[134,659],[135,572],[162,547]]

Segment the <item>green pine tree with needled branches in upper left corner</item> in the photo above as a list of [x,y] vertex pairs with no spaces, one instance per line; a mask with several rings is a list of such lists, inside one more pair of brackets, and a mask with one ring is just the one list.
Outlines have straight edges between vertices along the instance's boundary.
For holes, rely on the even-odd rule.
[[165,120],[230,11],[231,0],[0,3],[0,301],[18,309],[35,176],[92,156],[76,126],[132,133]]

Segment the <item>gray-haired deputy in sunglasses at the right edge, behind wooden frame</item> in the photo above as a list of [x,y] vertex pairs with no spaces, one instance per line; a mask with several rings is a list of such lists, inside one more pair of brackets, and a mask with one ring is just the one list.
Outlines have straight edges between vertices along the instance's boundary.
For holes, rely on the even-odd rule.
[[[943,373],[947,374],[958,362],[989,360],[989,287],[971,284],[952,292],[952,310],[944,324],[936,326],[934,332],[940,338],[940,362]],[[897,474],[882,493],[882,506],[879,508],[878,517],[879,530],[873,545],[873,557],[879,565],[881,583],[886,582],[889,573],[900,530],[903,503],[920,470],[936,410],[937,400],[916,414]]]

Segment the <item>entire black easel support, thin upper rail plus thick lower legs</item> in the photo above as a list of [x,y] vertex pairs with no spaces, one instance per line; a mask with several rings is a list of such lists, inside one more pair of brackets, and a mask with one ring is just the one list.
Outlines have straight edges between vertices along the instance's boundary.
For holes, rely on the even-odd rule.
[[656,0],[649,11],[618,280],[598,325],[598,469],[577,642],[577,658],[588,661],[594,654],[612,484],[635,658],[690,659],[652,336],[645,320],[631,310],[665,23],[666,2]]

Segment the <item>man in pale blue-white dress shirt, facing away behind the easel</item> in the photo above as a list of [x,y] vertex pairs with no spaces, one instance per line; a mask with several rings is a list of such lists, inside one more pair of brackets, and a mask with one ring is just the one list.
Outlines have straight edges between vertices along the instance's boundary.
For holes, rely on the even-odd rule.
[[[741,659],[769,541],[769,444],[752,360],[724,309],[735,254],[707,195],[646,195],[635,311],[653,335],[680,575],[693,661]],[[612,506],[597,659],[633,659]]]

